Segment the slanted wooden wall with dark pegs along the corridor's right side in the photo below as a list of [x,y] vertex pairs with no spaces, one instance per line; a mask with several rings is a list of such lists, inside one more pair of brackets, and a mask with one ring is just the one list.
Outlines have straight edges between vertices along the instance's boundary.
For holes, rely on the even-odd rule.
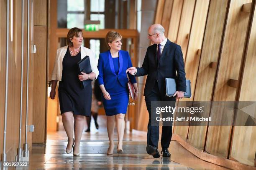
[[[170,15],[164,15],[167,8]],[[182,47],[186,78],[191,80],[192,98],[181,101],[256,100],[255,0],[159,0],[156,9],[155,23],[164,25],[169,40]],[[256,166],[255,126],[174,122],[173,128],[173,140],[201,159],[231,169]]]

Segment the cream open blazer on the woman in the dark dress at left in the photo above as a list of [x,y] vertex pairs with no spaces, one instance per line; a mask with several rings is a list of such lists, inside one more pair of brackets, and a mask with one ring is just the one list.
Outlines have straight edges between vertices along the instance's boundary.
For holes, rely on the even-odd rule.
[[[62,61],[67,52],[67,48],[68,48],[68,46],[58,48],[55,62],[54,62],[54,69],[53,69],[52,75],[51,75],[51,80],[61,81]],[[90,58],[92,72],[94,72],[96,74],[95,79],[97,79],[97,77],[99,75],[99,70],[97,68],[97,63],[95,61],[95,54],[89,48],[81,46],[81,59],[83,59],[86,55],[88,55]]]

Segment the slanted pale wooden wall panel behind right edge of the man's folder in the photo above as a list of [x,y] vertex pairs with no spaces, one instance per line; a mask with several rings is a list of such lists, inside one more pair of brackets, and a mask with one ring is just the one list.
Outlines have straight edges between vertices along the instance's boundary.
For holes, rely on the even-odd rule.
[[[209,0],[197,0],[190,31],[189,44],[187,49],[187,57],[185,60],[186,78],[191,81],[191,98],[183,98],[182,101],[193,100],[194,89],[197,80],[197,68],[199,66],[202,40],[205,31],[205,22],[207,18]],[[179,104],[181,107],[181,105]],[[180,125],[177,123],[176,125]],[[187,138],[188,130],[187,122],[183,122],[182,126],[174,128],[174,133]]]

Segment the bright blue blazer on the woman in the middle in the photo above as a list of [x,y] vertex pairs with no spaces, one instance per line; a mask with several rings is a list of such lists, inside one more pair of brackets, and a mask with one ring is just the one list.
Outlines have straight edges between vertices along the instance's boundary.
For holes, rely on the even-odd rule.
[[[98,61],[98,70],[100,73],[98,75],[97,80],[100,85],[105,86],[106,90],[113,88],[117,81],[119,81],[123,87],[127,87],[128,78],[125,71],[129,67],[133,67],[129,53],[127,51],[120,50],[119,71],[118,75],[116,75],[110,50],[102,52],[100,53]],[[130,75],[128,73],[128,76],[132,83],[136,83],[136,79],[133,75]]]

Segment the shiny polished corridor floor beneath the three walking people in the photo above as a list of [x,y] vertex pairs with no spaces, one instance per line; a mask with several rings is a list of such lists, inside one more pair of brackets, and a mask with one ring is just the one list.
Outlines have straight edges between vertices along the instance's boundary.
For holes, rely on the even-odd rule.
[[[172,141],[170,158],[154,159],[146,153],[145,134],[125,133],[123,150],[118,154],[107,155],[108,134],[105,118],[99,117],[100,129],[92,123],[91,133],[84,132],[80,145],[80,156],[66,154],[67,137],[63,130],[48,132],[46,145],[33,144],[29,167],[16,168],[31,170],[223,170],[220,166],[207,163],[195,157],[176,141]],[[85,128],[86,129],[86,128]],[[117,134],[115,134],[117,139]],[[117,142],[115,142],[115,148]],[[161,145],[159,144],[159,147]],[[161,150],[161,148],[159,148]]]

